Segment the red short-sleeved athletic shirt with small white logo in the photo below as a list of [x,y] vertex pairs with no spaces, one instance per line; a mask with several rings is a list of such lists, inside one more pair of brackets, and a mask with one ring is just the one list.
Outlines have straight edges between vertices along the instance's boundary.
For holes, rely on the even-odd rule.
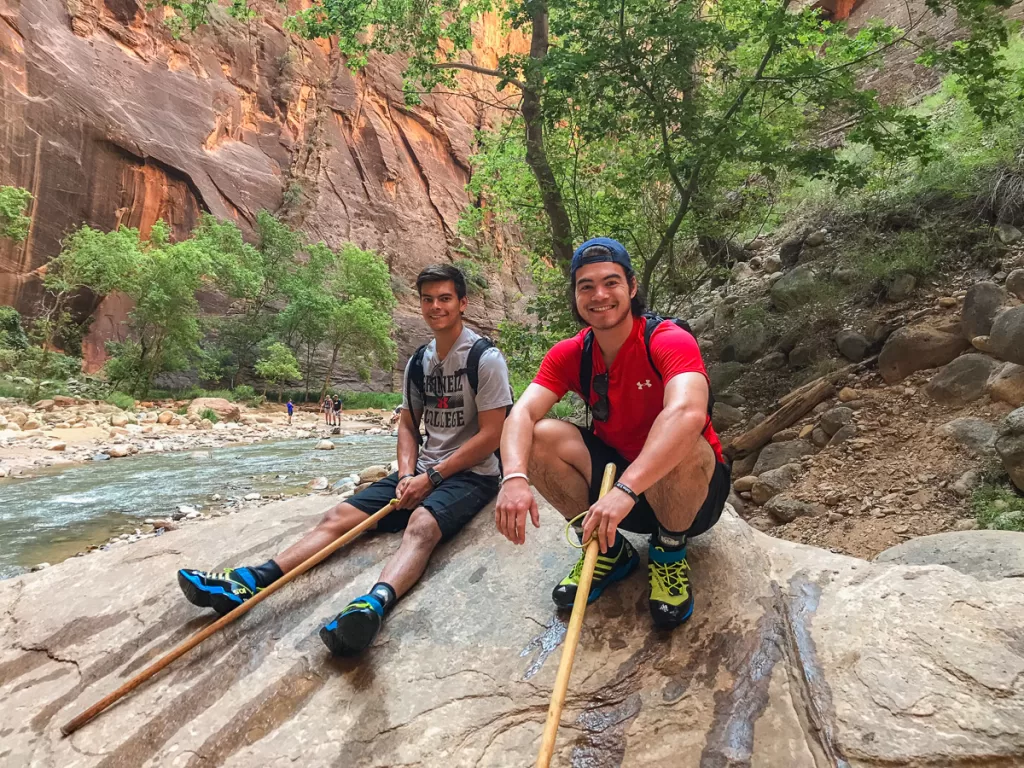
[[[665,403],[665,385],[679,374],[698,373],[708,379],[696,339],[674,323],[663,323],[651,335],[650,353],[662,377],[658,378],[647,359],[643,343],[646,322],[633,319],[633,332],[623,344],[608,372],[609,418],[606,422],[594,421],[594,434],[627,459],[635,461],[640,456],[654,419]],[[583,396],[580,387],[580,357],[583,355],[584,329],[571,339],[555,344],[544,356],[535,384],[550,389],[559,398],[568,390]],[[594,339],[594,376],[607,371],[601,348]],[[711,386],[709,379],[709,386]],[[590,406],[597,402],[593,384]],[[703,437],[711,443],[715,457],[722,461],[722,443],[708,419]]]

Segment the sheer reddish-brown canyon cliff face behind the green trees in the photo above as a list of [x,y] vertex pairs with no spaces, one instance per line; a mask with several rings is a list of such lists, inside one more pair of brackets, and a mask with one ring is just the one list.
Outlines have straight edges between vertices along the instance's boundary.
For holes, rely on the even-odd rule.
[[[406,284],[447,260],[473,133],[497,111],[446,95],[407,108],[399,59],[352,74],[327,42],[287,35],[288,10],[262,10],[248,26],[217,10],[175,41],[143,0],[0,0],[0,183],[36,197],[28,242],[0,243],[0,304],[31,311],[40,267],[83,223],[145,231],[163,218],[183,236],[202,211],[247,230],[278,212],[329,245],[377,249]],[[523,45],[494,17],[477,44],[481,66]],[[495,99],[488,79],[464,82]],[[485,329],[514,311],[521,273],[511,256],[494,271],[469,314]],[[408,351],[423,332],[403,297]],[[95,308],[91,361],[125,310]]]

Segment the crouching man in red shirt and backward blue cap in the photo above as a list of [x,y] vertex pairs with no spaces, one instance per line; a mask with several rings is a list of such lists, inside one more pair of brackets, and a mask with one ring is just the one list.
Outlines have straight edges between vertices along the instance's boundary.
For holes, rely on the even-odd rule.
[[[651,615],[657,627],[678,627],[693,611],[687,539],[718,522],[729,494],[708,374],[696,340],[671,321],[652,327],[647,344],[643,300],[617,241],[580,246],[570,285],[573,314],[588,328],[548,351],[505,422],[498,528],[523,544],[527,513],[540,525],[530,483],[567,519],[586,511],[577,532],[581,541],[596,536],[601,548],[588,602],[639,563],[618,529],[649,534]],[[580,380],[585,350],[589,387]],[[544,418],[567,391],[583,396],[588,389],[593,430]],[[598,500],[608,462],[618,468],[617,482]],[[575,601],[583,559],[554,589],[559,607]]]

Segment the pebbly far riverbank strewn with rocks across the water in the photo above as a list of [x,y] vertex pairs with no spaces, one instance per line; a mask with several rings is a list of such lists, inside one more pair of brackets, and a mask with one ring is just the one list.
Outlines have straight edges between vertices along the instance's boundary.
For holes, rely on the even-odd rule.
[[[216,422],[204,418],[208,410],[218,414]],[[392,421],[390,412],[373,409],[344,413],[339,426],[329,427],[322,415],[299,411],[289,424],[285,407],[269,403],[253,409],[227,400],[173,400],[122,411],[74,397],[32,406],[0,398],[0,480],[31,477],[60,465],[141,454],[331,434],[385,434],[391,431]]]

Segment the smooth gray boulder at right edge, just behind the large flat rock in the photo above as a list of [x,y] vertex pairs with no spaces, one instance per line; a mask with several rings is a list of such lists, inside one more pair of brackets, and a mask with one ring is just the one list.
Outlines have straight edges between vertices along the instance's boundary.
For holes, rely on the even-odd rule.
[[1024,534],[968,530],[934,534],[890,547],[877,562],[945,565],[983,582],[1024,578]]

